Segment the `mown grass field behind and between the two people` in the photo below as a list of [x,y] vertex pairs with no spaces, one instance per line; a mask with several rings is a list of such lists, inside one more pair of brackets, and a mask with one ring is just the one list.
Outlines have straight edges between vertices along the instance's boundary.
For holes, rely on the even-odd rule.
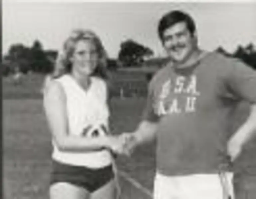
[[[47,128],[40,98],[42,78],[31,77],[14,86],[8,79],[3,81],[3,184],[4,199],[47,199],[51,169],[51,136]],[[40,79],[40,80],[38,80]],[[132,131],[140,121],[144,99],[113,99],[114,133]],[[234,129],[241,124],[248,106],[242,104],[237,110]],[[236,170],[246,181],[245,189],[256,189],[250,183],[249,174],[256,174],[256,140],[250,141],[236,162]],[[140,147],[132,158],[119,157],[118,168],[152,190],[155,168],[154,144]],[[241,180],[240,180],[241,181]],[[126,198],[149,197],[121,179],[123,196]],[[248,199],[256,195],[248,196]]]

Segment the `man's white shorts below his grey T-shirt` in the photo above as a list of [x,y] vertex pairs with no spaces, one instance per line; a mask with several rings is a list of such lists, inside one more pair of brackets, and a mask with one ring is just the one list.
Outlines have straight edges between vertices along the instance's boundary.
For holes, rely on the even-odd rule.
[[[229,196],[229,198],[228,198]],[[165,176],[157,173],[154,199],[234,199],[233,174]]]

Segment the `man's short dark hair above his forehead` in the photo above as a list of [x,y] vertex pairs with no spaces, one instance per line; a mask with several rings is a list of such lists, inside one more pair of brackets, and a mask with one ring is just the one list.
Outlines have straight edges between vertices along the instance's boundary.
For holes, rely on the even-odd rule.
[[174,10],[165,14],[158,24],[158,36],[160,39],[163,41],[163,33],[167,28],[180,22],[185,22],[191,35],[194,34],[196,27],[192,17],[183,11]]

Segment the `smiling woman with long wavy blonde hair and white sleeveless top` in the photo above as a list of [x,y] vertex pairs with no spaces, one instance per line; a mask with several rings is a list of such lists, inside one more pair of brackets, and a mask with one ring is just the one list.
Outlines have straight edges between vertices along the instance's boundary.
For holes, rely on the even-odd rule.
[[64,42],[44,107],[53,135],[51,199],[113,199],[111,152],[121,153],[124,136],[108,134],[106,53],[88,30]]

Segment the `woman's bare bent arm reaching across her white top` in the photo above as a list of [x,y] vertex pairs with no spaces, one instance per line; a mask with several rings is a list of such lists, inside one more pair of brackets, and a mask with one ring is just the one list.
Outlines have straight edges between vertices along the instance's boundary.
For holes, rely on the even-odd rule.
[[118,137],[88,138],[68,134],[65,100],[63,87],[52,80],[44,93],[44,109],[54,141],[61,151],[85,152],[121,145]]

